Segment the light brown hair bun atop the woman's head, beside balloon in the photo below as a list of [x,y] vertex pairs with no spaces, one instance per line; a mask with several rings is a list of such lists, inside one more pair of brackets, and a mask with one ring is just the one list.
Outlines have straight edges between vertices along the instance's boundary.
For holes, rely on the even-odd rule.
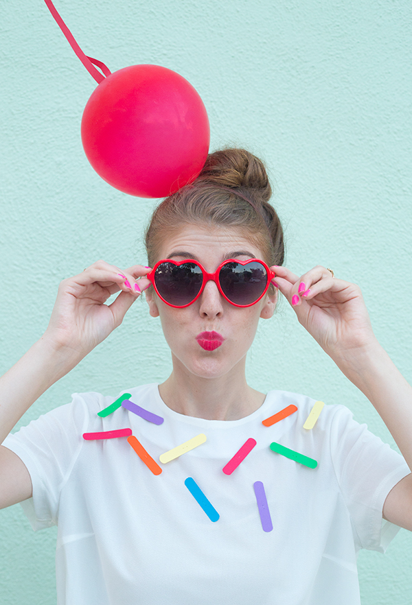
[[244,187],[253,190],[250,193],[265,202],[272,195],[264,163],[244,149],[225,149],[209,154],[198,180],[237,189]]

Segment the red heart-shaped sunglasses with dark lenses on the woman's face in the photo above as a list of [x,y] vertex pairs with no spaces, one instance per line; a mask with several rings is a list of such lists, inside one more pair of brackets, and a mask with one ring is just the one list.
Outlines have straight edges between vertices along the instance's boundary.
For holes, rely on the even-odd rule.
[[200,263],[192,259],[156,263],[146,276],[157,294],[170,307],[188,307],[201,296],[206,282],[216,283],[220,294],[235,307],[250,307],[266,294],[275,277],[264,261],[229,259],[221,263],[216,272],[207,273]]

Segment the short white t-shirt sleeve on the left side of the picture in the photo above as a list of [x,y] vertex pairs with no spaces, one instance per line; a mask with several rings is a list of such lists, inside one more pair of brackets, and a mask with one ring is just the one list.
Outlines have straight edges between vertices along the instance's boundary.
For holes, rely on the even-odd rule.
[[21,506],[34,530],[56,525],[60,491],[76,463],[87,430],[89,411],[79,394],[8,435],[3,446],[14,451],[30,473],[31,498]]

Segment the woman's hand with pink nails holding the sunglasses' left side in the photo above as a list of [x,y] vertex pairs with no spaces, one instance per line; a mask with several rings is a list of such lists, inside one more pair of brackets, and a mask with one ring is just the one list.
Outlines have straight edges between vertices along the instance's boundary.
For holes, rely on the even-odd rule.
[[[122,270],[98,261],[63,280],[43,338],[80,360],[122,323],[133,302],[150,285],[149,272],[142,265]],[[117,292],[119,296],[106,305]]]

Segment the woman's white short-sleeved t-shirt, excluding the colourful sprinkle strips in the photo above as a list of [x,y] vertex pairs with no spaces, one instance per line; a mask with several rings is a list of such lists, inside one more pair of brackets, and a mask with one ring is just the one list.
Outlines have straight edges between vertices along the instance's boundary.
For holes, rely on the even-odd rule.
[[[271,391],[240,420],[170,410],[156,384],[125,392],[161,425],[98,393],[74,394],[4,445],[25,463],[33,497],[22,503],[34,529],[58,525],[58,605],[356,605],[356,554],[384,551],[398,531],[382,522],[387,494],[410,473],[387,444],[327,405],[303,428],[314,400]],[[297,412],[271,427],[284,407]],[[84,432],[130,427],[162,468],[154,475],[126,438],[88,441]],[[159,455],[198,434],[207,440],[161,464]],[[222,468],[247,439],[257,444],[231,475]],[[308,468],[269,449],[278,442],[317,460]],[[190,491],[192,477],[220,518]],[[253,484],[262,482],[273,530],[262,529]]]

